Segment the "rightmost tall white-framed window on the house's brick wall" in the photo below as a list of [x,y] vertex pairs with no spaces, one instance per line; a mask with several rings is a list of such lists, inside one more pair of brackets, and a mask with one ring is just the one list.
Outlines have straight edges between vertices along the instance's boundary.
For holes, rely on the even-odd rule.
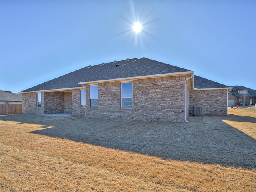
[[132,108],[132,82],[121,85],[121,108]]

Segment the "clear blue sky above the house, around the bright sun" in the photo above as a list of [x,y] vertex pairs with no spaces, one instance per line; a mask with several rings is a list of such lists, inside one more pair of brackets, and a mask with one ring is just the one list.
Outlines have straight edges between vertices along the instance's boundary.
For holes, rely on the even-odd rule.
[[256,90],[256,1],[0,1],[2,90],[142,57]]

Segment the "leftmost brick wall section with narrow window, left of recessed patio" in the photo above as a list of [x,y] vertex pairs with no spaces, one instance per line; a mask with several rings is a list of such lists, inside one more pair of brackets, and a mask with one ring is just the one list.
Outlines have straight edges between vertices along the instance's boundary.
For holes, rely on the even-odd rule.
[[41,94],[41,107],[37,107],[37,94],[36,93],[23,93],[23,113],[24,114],[43,114],[44,113],[44,93]]

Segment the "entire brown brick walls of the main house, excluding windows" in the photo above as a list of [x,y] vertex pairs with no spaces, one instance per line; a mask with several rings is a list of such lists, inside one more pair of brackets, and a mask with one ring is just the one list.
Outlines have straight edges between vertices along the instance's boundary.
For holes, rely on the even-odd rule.
[[[133,80],[132,109],[121,108],[121,82],[98,84],[98,108],[90,108],[90,86],[86,85],[86,107],[81,108],[80,89],[72,92],[42,92],[41,108],[36,93],[23,95],[23,113],[72,113],[87,118],[185,121],[185,76]],[[187,116],[193,106],[203,106],[204,115],[226,115],[226,90],[187,92]]]

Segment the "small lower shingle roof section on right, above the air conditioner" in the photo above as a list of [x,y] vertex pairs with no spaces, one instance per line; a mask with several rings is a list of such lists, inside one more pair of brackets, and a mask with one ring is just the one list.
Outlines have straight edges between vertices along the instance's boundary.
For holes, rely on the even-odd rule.
[[198,88],[198,89],[228,88],[228,86],[194,75],[194,88]]

